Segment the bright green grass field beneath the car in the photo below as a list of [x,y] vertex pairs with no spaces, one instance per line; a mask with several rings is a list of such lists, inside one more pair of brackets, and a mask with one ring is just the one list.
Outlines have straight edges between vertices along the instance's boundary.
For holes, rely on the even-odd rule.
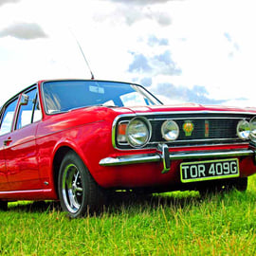
[[256,176],[247,192],[117,198],[101,216],[70,220],[46,202],[0,211],[1,255],[255,255]]

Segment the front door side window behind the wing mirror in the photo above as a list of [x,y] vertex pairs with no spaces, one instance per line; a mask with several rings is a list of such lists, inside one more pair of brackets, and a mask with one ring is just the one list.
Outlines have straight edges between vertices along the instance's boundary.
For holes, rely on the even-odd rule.
[[37,90],[33,89],[26,93],[28,98],[27,104],[21,104],[19,115],[16,122],[16,129],[20,129],[27,124],[41,119],[41,111],[37,109]]

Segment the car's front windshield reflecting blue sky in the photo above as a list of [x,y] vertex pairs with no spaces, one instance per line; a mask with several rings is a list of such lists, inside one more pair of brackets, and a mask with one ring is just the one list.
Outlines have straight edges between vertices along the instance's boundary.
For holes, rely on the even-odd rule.
[[125,82],[44,82],[43,98],[48,114],[93,105],[145,106],[161,104],[142,86]]

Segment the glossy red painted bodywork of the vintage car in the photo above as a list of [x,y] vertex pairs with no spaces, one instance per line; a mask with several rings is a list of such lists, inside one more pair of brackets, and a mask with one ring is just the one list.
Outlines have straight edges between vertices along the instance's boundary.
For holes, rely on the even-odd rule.
[[[172,162],[171,171],[161,174],[162,163],[144,163],[118,167],[102,167],[99,162],[108,156],[132,155],[135,151],[113,148],[111,131],[113,120],[122,114],[173,111],[235,111],[245,109],[220,106],[183,104],[172,106],[107,108],[87,107],[68,113],[47,116],[44,112],[41,86],[38,82],[43,119],[20,130],[0,136],[0,198],[58,199],[54,177],[54,157],[62,147],[75,151],[103,188],[135,188],[180,183],[180,160]],[[16,110],[17,111],[17,110]],[[249,109],[255,112],[256,109]],[[4,146],[4,140],[12,141]],[[247,148],[247,145],[205,146],[172,149],[170,151],[225,150]],[[155,150],[137,150],[137,154],[155,153]],[[254,174],[252,159],[240,160],[242,176]]]

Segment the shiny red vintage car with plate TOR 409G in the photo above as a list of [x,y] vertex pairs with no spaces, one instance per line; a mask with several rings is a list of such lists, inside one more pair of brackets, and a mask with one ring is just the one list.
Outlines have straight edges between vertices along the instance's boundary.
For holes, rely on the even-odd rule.
[[40,81],[1,108],[1,207],[60,200],[78,217],[109,191],[245,191],[255,145],[256,109],[166,106],[126,82]]

